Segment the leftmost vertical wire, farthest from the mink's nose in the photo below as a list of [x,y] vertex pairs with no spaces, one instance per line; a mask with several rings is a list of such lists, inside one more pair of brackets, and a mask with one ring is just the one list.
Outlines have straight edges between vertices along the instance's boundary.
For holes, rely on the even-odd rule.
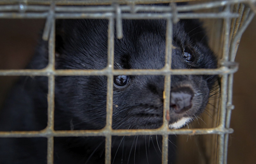
[[[49,38],[49,63],[48,71],[53,72],[55,70],[55,20],[52,17],[51,20],[51,32]],[[47,131],[50,134],[47,137],[47,164],[53,164],[53,136],[54,130],[54,88],[55,88],[55,77],[53,74],[48,76],[48,122]]]

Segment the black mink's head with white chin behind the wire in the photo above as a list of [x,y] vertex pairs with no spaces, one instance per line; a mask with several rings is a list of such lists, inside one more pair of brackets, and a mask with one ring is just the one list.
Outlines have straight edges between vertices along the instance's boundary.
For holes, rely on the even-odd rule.
[[[172,69],[216,68],[197,20],[180,20],[172,31]],[[114,42],[114,68],[161,69],[165,36],[165,20],[123,20],[123,38]],[[56,69],[103,69],[107,54],[108,20],[57,21]],[[204,111],[214,81],[213,75],[171,76],[170,128],[180,128]],[[113,129],[162,125],[163,75],[116,75],[113,87]],[[72,129],[105,126],[106,76],[57,76],[55,88],[55,129],[70,129],[71,122]]]

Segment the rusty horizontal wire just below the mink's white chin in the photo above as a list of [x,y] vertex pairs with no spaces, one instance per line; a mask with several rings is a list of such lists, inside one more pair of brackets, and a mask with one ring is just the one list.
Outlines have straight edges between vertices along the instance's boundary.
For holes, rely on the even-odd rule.
[[81,136],[134,136],[134,135],[203,135],[229,134],[231,128],[202,128],[202,129],[100,129],[100,130],[57,130],[41,131],[0,131],[0,137],[81,137]]

